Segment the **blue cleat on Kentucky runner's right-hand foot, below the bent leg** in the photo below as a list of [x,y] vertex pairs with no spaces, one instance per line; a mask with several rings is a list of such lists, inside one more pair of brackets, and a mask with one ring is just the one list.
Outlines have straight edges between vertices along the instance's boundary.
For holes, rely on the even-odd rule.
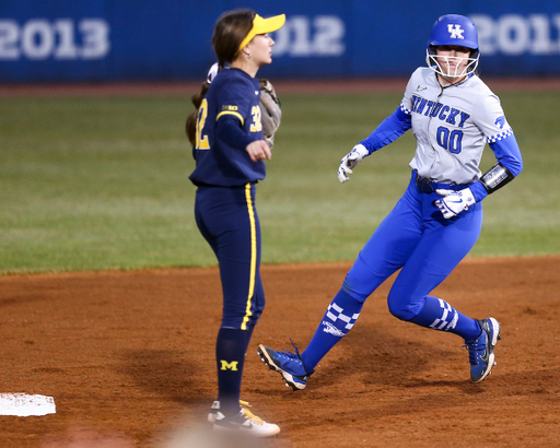
[[494,346],[501,339],[500,322],[493,317],[477,320],[477,322],[482,330],[480,335],[464,345],[468,350],[470,380],[472,382],[480,382],[490,375],[490,370],[495,365]]

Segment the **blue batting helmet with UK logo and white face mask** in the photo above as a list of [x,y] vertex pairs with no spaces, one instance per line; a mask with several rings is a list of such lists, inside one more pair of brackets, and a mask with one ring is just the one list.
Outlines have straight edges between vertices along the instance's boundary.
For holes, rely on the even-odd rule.
[[[438,56],[435,47],[440,46],[466,47],[470,49],[470,55],[468,58]],[[470,19],[457,14],[442,15],[438,19],[428,40],[425,51],[428,67],[444,76],[463,78],[476,70],[479,58],[478,33]],[[454,66],[451,70],[450,62]]]

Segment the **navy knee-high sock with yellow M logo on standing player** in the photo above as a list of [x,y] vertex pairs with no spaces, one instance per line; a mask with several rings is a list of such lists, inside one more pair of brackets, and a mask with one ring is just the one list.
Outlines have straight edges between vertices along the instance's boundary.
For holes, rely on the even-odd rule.
[[218,400],[224,415],[240,412],[241,380],[248,332],[233,328],[221,328],[215,342],[218,366]]

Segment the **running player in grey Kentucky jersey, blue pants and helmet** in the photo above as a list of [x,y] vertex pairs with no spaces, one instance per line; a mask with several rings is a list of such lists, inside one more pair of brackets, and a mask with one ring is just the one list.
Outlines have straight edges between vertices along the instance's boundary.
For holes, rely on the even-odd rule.
[[[364,157],[409,129],[417,139],[407,190],[360,251],[305,351],[259,345],[261,359],[294,390],[305,388],[319,359],[354,326],[365,299],[399,269],[387,298],[389,311],[465,340],[471,381],[490,374],[500,322],[471,319],[430,295],[475,245],[482,226],[481,201],[523,168],[500,101],[477,75],[479,56],[472,21],[441,16],[428,42],[429,67],[412,73],[400,106],[342,158],[338,177],[345,182]],[[497,163],[482,175],[479,163],[487,143]]]

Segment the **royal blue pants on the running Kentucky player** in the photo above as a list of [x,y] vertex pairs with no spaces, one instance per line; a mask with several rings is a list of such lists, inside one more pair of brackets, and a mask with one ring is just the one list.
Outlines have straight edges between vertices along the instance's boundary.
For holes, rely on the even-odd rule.
[[348,294],[363,303],[401,269],[387,298],[389,311],[411,320],[422,310],[425,297],[469,252],[482,226],[481,203],[445,220],[434,205],[436,199],[441,196],[417,188],[413,175],[348,272]]

